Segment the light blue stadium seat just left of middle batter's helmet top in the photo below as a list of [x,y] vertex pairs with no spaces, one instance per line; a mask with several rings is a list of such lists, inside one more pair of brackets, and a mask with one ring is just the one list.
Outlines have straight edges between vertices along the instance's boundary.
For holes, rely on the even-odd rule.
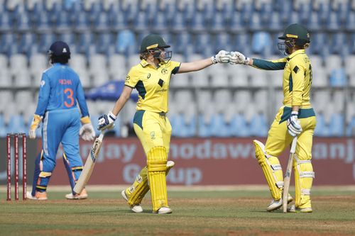
[[116,52],[124,55],[136,53],[136,39],[131,30],[121,30],[116,38]]

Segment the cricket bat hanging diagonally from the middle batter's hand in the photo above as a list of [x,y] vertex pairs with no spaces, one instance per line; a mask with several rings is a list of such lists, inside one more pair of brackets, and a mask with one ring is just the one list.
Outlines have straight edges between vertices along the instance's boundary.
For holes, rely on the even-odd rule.
[[99,156],[99,151],[102,145],[102,140],[104,139],[104,130],[101,131],[99,137],[96,138],[89,155],[87,156],[87,161],[85,162],[84,168],[82,169],[82,174],[80,174],[77,184],[75,184],[73,191],[75,193],[81,193],[82,189],[86,186],[87,182],[90,179],[92,170],[97,157]]

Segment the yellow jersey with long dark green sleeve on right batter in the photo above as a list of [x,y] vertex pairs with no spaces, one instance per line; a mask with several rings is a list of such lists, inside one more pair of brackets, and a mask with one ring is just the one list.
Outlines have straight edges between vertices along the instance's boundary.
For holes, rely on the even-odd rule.
[[253,67],[283,69],[283,105],[311,108],[312,66],[305,50],[297,50],[280,60],[253,59]]

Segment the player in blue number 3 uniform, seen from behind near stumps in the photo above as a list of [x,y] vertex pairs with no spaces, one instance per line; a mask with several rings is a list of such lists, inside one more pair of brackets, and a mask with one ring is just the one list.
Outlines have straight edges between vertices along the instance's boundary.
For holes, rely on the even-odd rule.
[[[53,66],[42,74],[38,105],[29,131],[30,138],[34,139],[35,130],[43,122],[43,147],[35,159],[32,193],[27,193],[27,197],[33,200],[47,199],[46,190],[55,168],[55,156],[60,143],[64,150],[63,161],[70,186],[74,188],[82,172],[79,135],[83,140],[94,140],[95,137],[82,84],[78,75],[67,65],[70,59],[69,46],[57,41],[50,46],[48,54]],[[80,109],[77,108],[77,103]],[[84,189],[80,194],[72,192],[65,197],[84,199],[87,198],[87,192]]]

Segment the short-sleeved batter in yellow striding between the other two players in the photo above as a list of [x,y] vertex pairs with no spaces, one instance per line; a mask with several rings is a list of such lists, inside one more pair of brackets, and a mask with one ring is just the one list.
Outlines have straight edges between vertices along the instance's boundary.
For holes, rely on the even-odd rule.
[[[217,55],[195,62],[170,61],[172,51],[160,35],[147,35],[141,42],[141,62],[133,66],[126,77],[124,91],[116,101],[114,109],[99,117],[98,129],[109,128],[119,111],[129,99],[133,89],[138,90],[139,99],[133,128],[143,145],[147,166],[138,174],[133,185],[122,191],[133,212],[141,213],[141,201],[151,190],[153,213],[171,213],[168,206],[165,174],[173,167],[168,162],[171,125],[168,112],[168,89],[172,74],[195,72],[216,63],[228,63],[230,53],[220,51]],[[175,78],[178,79],[178,78]]]

